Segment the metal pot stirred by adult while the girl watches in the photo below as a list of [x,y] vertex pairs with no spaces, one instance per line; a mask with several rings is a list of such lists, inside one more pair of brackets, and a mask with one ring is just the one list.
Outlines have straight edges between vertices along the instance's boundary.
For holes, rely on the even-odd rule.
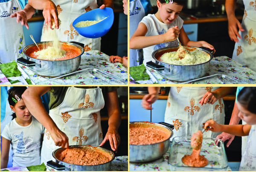
[[56,154],[63,151],[65,148],[58,148],[52,152],[52,156],[55,158],[55,161],[48,161],[47,165],[51,166],[54,169],[58,170],[64,170],[64,171],[110,171],[111,169],[111,162],[114,160],[115,155],[112,151],[102,148],[102,147],[96,147],[91,145],[72,145],[70,147],[76,147],[76,148],[89,148],[94,149],[103,152],[104,154],[110,155],[111,160],[104,164],[99,165],[76,165],[76,164],[70,164],[63,161],[60,161]]

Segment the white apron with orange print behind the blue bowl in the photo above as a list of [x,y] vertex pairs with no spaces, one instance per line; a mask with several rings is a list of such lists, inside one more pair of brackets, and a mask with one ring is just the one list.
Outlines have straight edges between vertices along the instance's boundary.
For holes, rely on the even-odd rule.
[[[84,44],[84,51],[99,50],[101,38],[86,38],[81,36],[73,27],[73,21],[80,15],[98,8],[97,0],[52,0],[58,9],[58,18],[61,20],[61,25],[56,29],[59,41],[76,41]],[[44,22],[41,41],[45,40],[44,31],[48,29]]]

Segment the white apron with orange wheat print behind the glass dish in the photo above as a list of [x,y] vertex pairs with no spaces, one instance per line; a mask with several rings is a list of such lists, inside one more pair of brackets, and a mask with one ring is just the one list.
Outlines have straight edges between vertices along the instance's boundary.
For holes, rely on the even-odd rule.
[[[219,99],[214,104],[204,104],[199,101],[205,93],[219,87],[171,87],[166,105],[164,121],[175,126],[173,137],[192,136],[198,130],[204,130],[207,120],[213,119],[224,124],[224,103]],[[204,137],[216,138],[220,133],[204,132]],[[172,138],[173,138],[172,137]]]

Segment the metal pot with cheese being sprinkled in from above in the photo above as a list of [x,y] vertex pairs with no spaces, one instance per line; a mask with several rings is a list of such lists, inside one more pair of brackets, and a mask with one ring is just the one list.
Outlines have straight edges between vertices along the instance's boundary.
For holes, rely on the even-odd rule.
[[[19,62],[22,65],[28,66],[30,70],[41,76],[55,77],[74,72],[79,68],[79,65],[81,63],[81,55],[84,54],[84,44],[81,44],[79,42],[63,41],[60,41],[60,43],[61,46],[69,46],[72,49],[76,49],[77,51],[81,52],[81,54],[79,56],[67,60],[49,61],[35,59],[27,55],[27,52],[29,52],[29,50],[32,50],[32,48],[36,47],[35,44],[30,44],[23,48],[23,54],[26,55],[27,59],[19,58],[17,59],[17,62]],[[44,47],[44,45],[47,44],[47,41],[38,42],[37,44],[39,47]]]

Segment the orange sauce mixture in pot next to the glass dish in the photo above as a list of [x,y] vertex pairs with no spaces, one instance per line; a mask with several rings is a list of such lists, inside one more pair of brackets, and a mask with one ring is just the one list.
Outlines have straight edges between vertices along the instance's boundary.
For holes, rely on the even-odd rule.
[[165,141],[170,133],[152,127],[130,127],[129,136],[130,144],[142,145]]

